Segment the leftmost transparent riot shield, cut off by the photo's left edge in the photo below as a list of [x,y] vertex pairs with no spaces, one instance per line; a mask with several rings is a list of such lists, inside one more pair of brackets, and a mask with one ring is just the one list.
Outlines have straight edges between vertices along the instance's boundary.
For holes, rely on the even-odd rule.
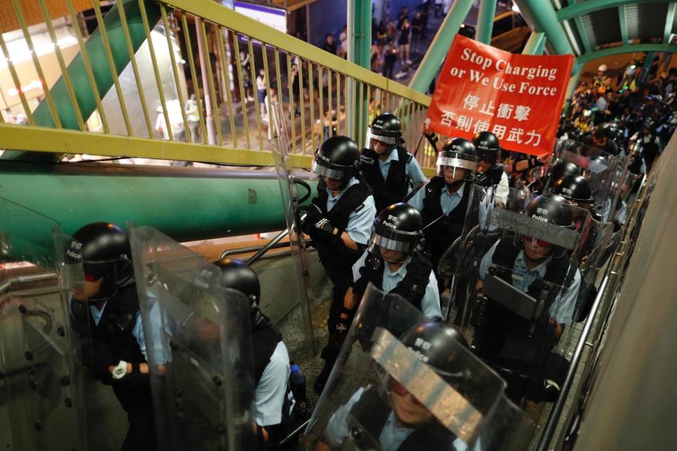
[[59,224],[0,198],[0,255],[0,431],[14,450],[85,450]]

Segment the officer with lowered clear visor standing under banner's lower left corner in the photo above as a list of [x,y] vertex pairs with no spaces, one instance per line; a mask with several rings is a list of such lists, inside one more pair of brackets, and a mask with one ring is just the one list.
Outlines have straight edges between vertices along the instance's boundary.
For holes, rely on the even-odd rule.
[[[434,271],[444,251],[463,232],[470,196],[468,182],[475,179],[476,170],[477,154],[472,143],[463,138],[449,140],[437,154],[437,175],[408,200],[421,212],[425,249]],[[440,283],[440,278],[437,281]]]

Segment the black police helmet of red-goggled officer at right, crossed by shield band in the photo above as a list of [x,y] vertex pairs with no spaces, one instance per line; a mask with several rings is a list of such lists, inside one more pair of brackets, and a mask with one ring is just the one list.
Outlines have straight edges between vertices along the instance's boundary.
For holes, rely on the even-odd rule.
[[[525,208],[524,214],[529,218],[541,221],[554,226],[568,228],[575,230],[576,225],[566,199],[558,194],[547,194],[535,197]],[[540,253],[539,258],[544,258],[549,255],[555,257],[562,257],[566,249],[562,247],[551,245],[544,236],[518,236],[523,240],[523,247],[525,250],[530,249],[532,252]],[[527,255],[530,259],[534,259]]]

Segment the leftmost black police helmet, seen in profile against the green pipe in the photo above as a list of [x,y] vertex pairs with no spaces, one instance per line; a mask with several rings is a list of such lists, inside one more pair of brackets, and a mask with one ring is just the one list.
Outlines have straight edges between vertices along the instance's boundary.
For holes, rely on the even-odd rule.
[[[109,278],[115,283],[129,278],[132,271],[127,234],[111,223],[91,223],[73,234],[71,250],[80,247],[85,278]],[[73,257],[75,257],[73,255]]]

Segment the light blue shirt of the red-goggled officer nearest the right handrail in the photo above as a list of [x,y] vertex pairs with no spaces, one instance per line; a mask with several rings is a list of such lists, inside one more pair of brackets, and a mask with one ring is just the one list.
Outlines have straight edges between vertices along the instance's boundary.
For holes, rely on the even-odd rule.
[[[480,278],[484,280],[484,275],[487,273],[489,266],[492,264],[492,258],[494,257],[494,252],[496,247],[499,245],[501,240],[497,241],[489,252],[484,254],[482,257],[482,262],[480,263]],[[524,251],[521,250],[515,259],[515,264],[513,264],[513,271],[519,273],[522,276],[522,280],[512,279],[512,285],[523,292],[527,292],[527,288],[534,283],[537,278],[543,278],[545,276],[546,266],[552,257],[544,259],[541,264],[535,266],[535,268],[527,268],[526,258]],[[573,276],[573,281],[568,287],[564,287],[560,290],[555,298],[555,301],[552,303],[549,309],[550,316],[552,316],[560,324],[571,324],[573,321],[573,311],[576,307],[576,297],[578,296],[578,289],[580,288],[580,271],[576,268],[576,273]]]

